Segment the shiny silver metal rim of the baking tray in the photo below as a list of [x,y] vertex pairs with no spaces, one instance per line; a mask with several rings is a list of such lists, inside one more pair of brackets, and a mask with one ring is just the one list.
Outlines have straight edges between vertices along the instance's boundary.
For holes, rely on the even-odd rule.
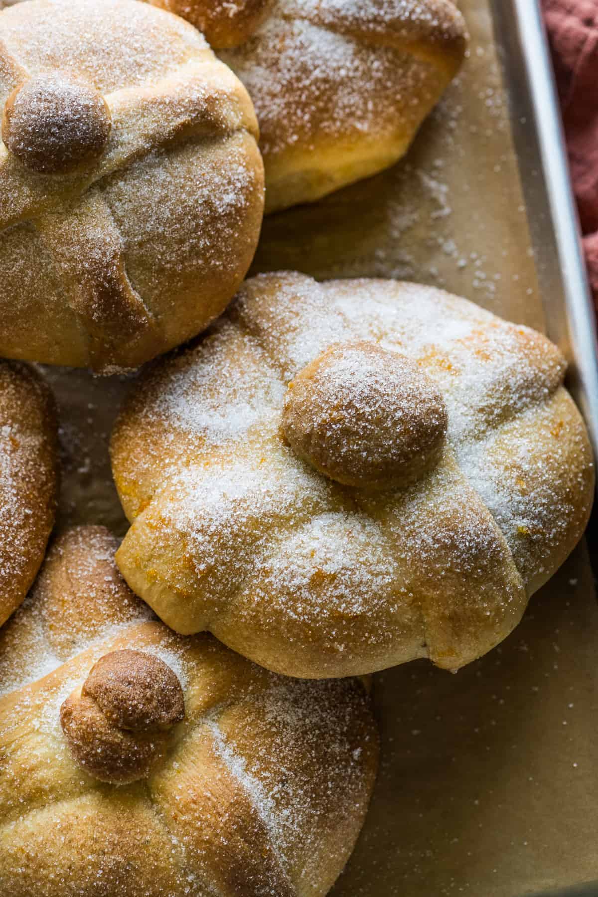
[[540,0],[490,0],[490,5],[547,334],[568,359],[568,388],[598,457],[596,317]]

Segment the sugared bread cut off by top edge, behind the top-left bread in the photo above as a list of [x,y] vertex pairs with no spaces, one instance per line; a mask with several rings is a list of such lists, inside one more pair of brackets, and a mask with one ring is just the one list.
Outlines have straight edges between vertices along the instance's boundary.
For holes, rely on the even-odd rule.
[[204,31],[256,106],[266,211],[394,164],[461,65],[453,0],[151,0]]

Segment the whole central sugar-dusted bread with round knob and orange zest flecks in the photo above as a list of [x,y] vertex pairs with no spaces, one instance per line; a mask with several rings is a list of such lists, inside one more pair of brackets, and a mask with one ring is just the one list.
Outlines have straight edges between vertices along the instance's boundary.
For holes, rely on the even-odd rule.
[[565,368],[428,286],[256,277],[117,421],[117,564],[173,629],[279,673],[456,670],[584,531],[594,466]]

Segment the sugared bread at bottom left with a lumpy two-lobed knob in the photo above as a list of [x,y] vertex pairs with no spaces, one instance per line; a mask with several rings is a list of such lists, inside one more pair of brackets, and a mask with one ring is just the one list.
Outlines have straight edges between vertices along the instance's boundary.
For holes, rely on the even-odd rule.
[[0,893],[320,897],[366,814],[359,680],[304,683],[152,618],[102,527],[0,630]]

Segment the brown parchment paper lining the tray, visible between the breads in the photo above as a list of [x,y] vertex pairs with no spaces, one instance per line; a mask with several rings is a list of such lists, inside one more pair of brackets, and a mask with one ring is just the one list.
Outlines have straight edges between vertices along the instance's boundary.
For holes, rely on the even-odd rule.
[[[267,220],[255,271],[417,279],[545,329],[489,3],[463,0],[470,59],[409,158]],[[61,407],[59,526],[122,535],[107,443],[130,381],[46,375]],[[598,878],[597,654],[582,546],[486,658],[458,675],[417,662],[377,676],[382,766],[335,897],[519,897]]]

